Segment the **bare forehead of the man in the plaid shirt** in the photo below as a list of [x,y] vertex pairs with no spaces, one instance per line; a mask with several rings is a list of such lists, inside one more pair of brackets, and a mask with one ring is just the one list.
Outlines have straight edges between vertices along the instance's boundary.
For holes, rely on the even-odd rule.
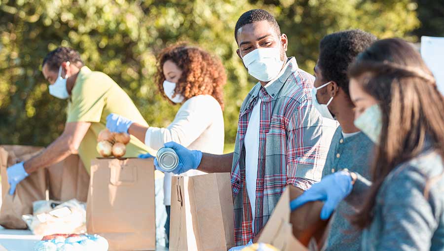
[[259,21],[246,24],[237,30],[238,44],[244,41],[256,41],[259,37],[272,35],[277,36],[276,31],[268,21]]

